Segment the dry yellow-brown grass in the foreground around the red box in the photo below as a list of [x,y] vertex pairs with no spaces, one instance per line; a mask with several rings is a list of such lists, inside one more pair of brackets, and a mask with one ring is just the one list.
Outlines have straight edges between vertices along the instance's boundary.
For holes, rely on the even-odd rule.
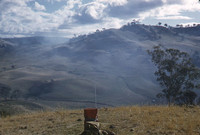
[[[200,108],[119,107],[99,110],[102,129],[118,135],[199,135]],[[78,135],[83,131],[83,110],[59,110],[0,119],[3,135]],[[133,129],[133,131],[130,131]]]

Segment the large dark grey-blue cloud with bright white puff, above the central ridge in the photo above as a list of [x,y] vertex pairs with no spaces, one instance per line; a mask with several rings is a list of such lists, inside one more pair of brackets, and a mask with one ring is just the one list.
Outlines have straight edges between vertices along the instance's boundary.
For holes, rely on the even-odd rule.
[[73,19],[79,24],[101,23],[105,18],[130,19],[163,3],[162,0],[95,0],[80,4]]

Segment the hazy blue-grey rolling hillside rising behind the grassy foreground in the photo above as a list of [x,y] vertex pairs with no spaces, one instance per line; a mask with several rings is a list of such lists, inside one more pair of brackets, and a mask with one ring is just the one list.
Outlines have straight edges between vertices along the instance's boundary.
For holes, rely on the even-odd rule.
[[26,98],[45,100],[45,105],[47,101],[49,105],[74,102],[75,106],[89,102],[94,107],[95,88],[101,105],[152,104],[161,88],[146,50],[158,44],[178,48],[199,65],[199,29],[131,24],[68,42],[41,37],[1,39],[12,49],[0,48],[4,53],[0,82],[20,89]]

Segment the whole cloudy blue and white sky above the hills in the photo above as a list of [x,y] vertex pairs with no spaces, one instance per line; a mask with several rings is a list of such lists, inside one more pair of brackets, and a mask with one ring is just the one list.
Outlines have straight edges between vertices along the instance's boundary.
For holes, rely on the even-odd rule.
[[0,37],[73,37],[144,24],[200,23],[199,0],[0,0]]

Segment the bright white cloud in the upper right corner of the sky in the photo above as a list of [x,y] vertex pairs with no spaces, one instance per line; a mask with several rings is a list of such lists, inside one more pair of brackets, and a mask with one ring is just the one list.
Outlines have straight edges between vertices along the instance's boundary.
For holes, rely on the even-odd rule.
[[154,17],[156,19],[170,19],[170,20],[178,20],[184,19],[189,20],[192,19],[189,16],[183,15],[183,12],[199,12],[200,4],[197,0],[180,0],[180,1],[172,1],[172,0],[163,0],[164,4],[157,8],[151,9],[146,12],[139,13],[139,17],[144,20],[148,17]]

